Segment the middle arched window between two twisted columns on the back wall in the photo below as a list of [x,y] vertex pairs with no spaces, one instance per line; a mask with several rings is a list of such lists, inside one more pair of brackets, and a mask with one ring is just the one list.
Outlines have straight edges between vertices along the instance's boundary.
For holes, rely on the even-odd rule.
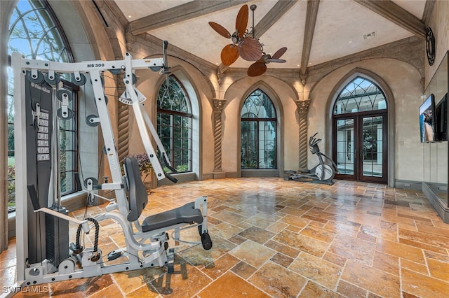
[[260,89],[241,108],[241,169],[276,169],[276,110]]

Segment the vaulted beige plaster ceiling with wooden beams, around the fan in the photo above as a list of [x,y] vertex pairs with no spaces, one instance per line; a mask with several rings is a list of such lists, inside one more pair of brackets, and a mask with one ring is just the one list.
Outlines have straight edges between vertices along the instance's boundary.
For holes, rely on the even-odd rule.
[[[255,4],[255,34],[264,52],[287,47],[286,63],[269,68],[300,69],[353,55],[410,36],[425,38],[434,0],[115,0],[135,34],[167,40],[199,59],[222,66],[220,52],[230,38],[208,24],[221,24],[231,34],[244,4]],[[253,26],[249,11],[248,30]],[[230,67],[250,66],[237,59]]]

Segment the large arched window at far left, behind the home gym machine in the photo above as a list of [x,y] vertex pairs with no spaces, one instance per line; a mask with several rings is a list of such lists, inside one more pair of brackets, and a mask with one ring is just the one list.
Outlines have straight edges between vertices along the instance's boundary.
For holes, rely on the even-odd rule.
[[[27,59],[74,62],[69,43],[60,24],[45,0],[20,0],[9,26],[8,55],[20,52]],[[64,78],[64,77],[62,77]],[[64,82],[71,88],[71,83]],[[76,88],[75,88],[76,90]],[[72,90],[73,92],[75,90]],[[76,115],[76,93],[69,108]],[[15,206],[14,104],[13,71],[8,67],[8,206]],[[76,117],[60,122],[61,193],[75,191]]]

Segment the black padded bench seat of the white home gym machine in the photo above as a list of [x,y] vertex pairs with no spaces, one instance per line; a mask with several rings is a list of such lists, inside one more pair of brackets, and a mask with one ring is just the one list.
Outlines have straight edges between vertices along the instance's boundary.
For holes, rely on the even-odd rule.
[[192,202],[169,211],[148,216],[142,222],[142,232],[149,232],[154,229],[162,229],[182,223],[201,224],[202,222],[203,215],[199,209],[195,209],[195,203]]

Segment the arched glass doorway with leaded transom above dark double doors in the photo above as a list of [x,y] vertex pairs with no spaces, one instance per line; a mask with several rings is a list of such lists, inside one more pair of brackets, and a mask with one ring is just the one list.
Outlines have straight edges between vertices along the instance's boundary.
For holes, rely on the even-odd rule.
[[333,159],[336,178],[388,182],[387,99],[368,78],[356,76],[333,106]]

